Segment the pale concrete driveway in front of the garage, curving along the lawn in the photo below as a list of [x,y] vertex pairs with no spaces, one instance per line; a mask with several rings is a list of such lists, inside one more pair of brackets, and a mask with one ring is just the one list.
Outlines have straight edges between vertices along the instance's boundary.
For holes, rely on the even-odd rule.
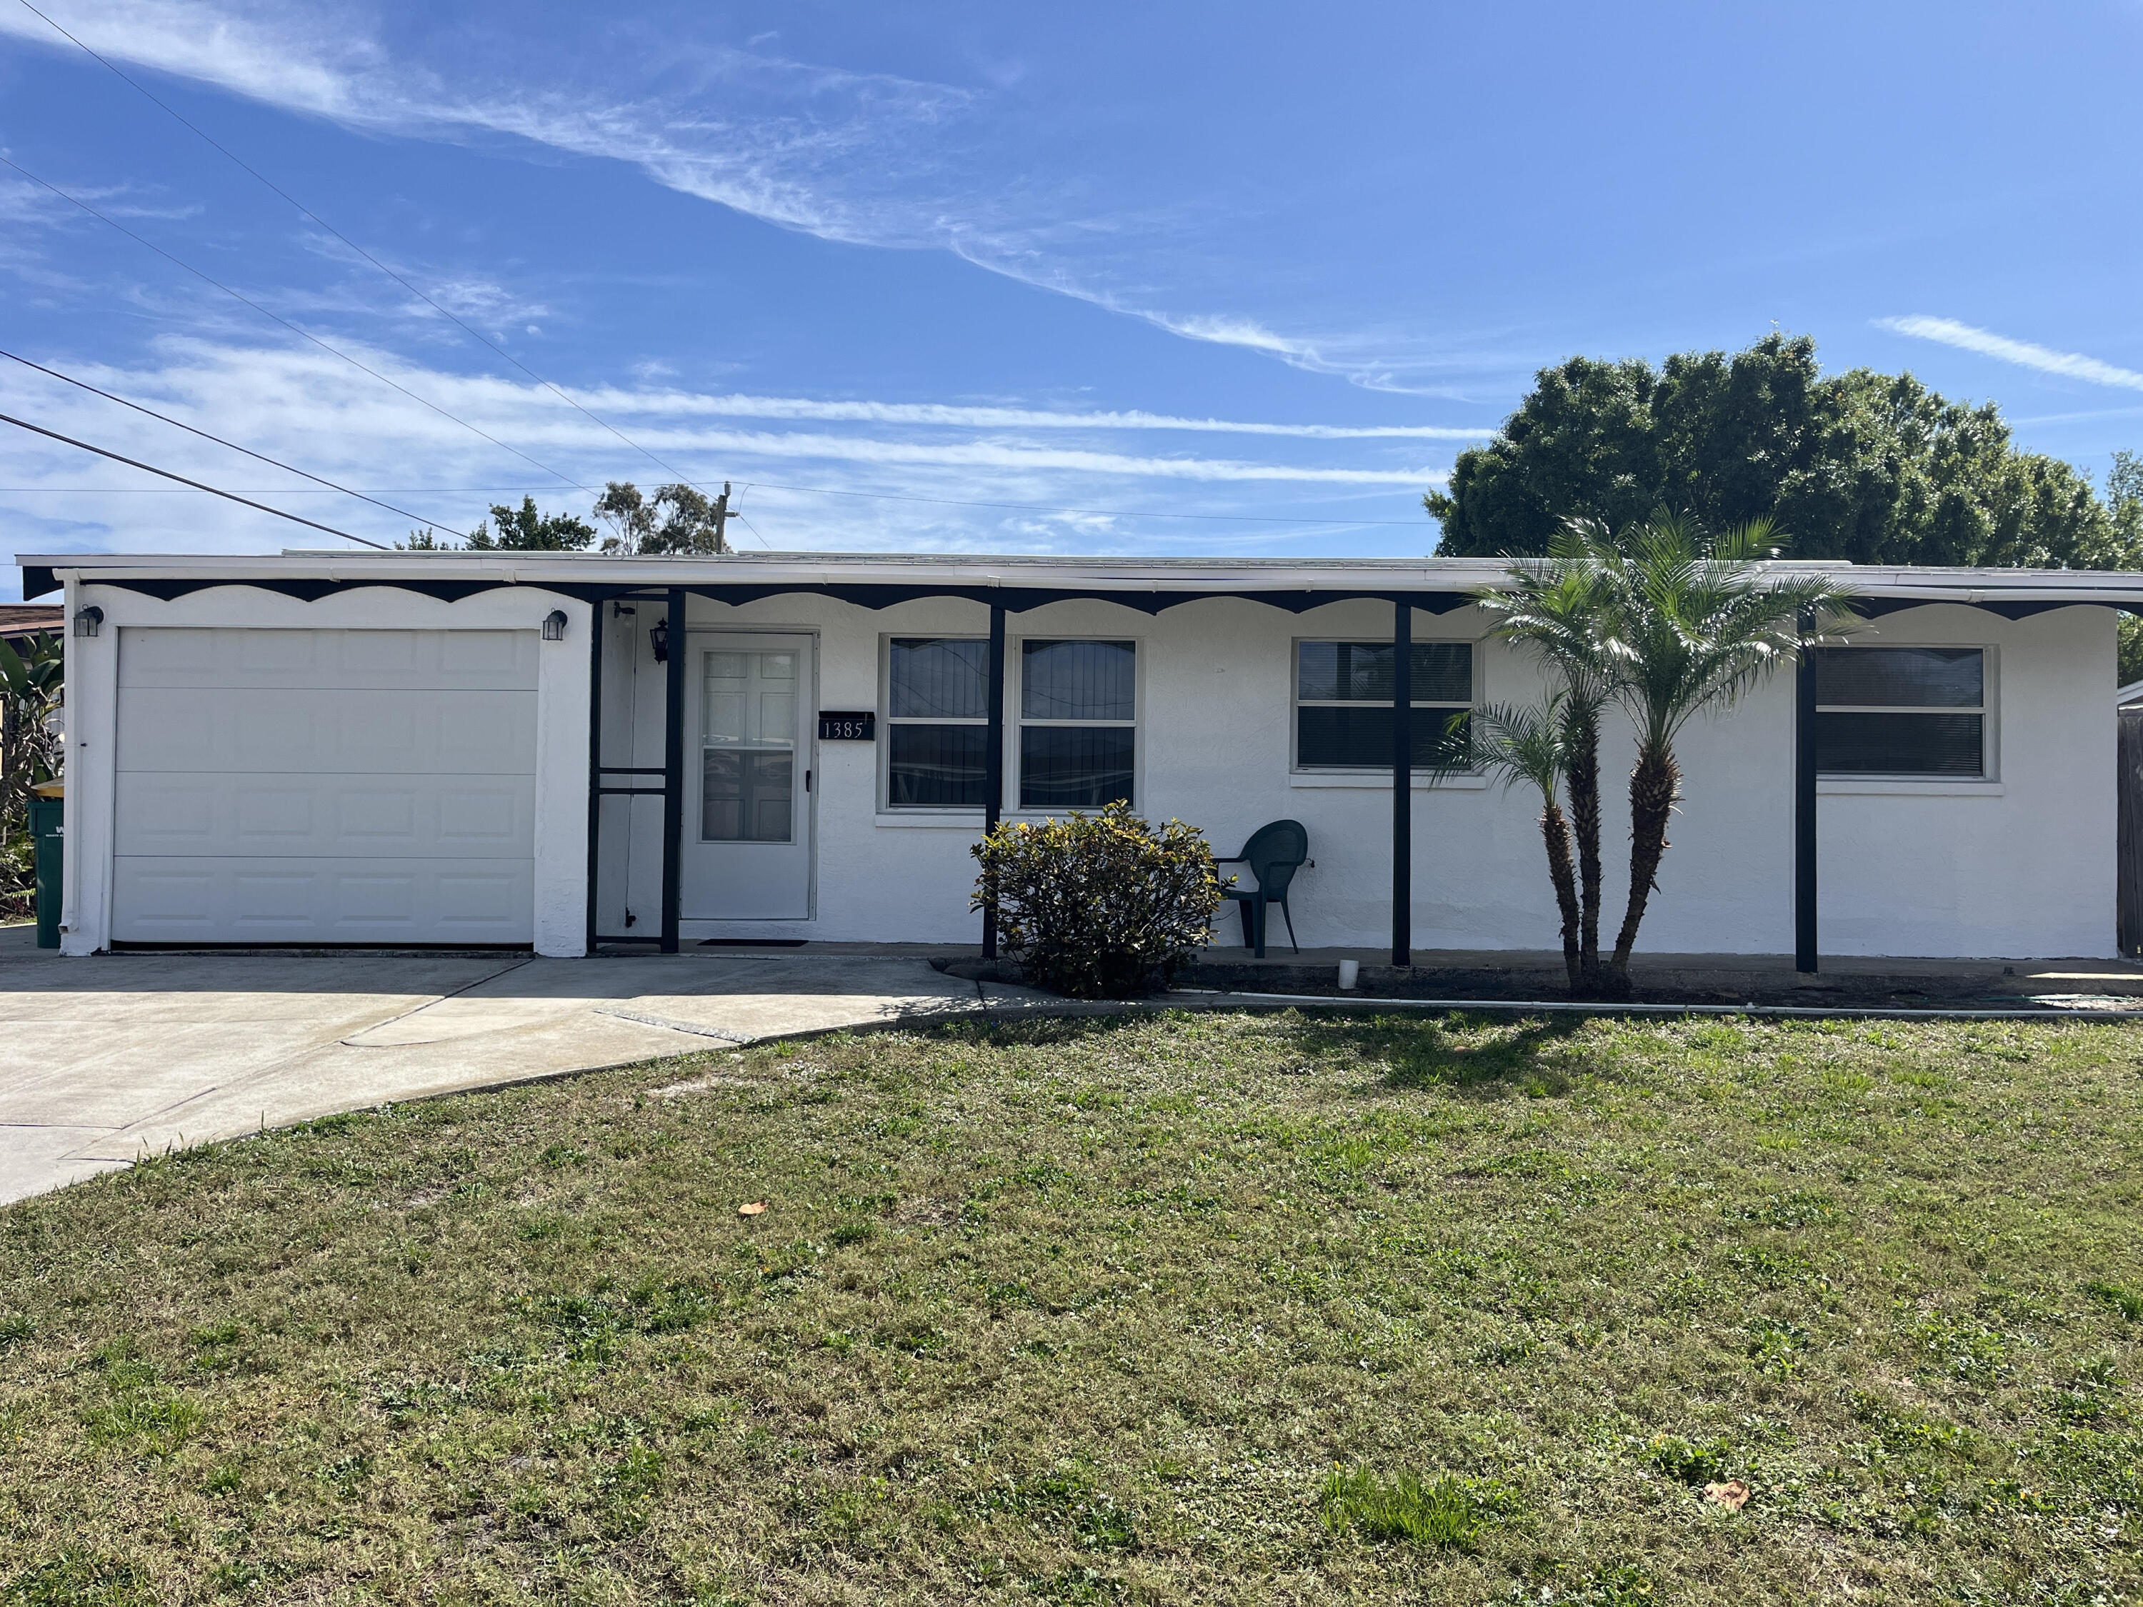
[[0,1202],[336,1110],[1031,998],[883,951],[60,960],[11,926]]

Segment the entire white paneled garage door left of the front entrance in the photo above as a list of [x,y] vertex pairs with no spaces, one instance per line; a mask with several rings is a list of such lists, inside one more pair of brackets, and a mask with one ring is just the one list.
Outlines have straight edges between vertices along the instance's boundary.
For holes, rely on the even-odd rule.
[[534,816],[534,630],[120,632],[120,943],[527,943]]

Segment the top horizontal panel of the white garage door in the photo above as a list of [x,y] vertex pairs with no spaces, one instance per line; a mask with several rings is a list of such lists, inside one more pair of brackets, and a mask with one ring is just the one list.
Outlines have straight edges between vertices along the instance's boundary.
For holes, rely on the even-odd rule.
[[126,630],[120,686],[433,690],[536,681],[534,630]]

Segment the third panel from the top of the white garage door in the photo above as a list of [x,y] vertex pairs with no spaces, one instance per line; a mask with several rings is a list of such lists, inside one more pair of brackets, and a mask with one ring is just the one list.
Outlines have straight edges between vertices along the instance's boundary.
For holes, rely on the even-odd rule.
[[131,855],[521,857],[536,780],[120,771],[116,825]]

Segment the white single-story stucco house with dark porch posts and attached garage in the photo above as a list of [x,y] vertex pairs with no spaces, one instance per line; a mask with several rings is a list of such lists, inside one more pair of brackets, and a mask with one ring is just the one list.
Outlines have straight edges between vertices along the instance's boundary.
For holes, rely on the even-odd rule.
[[[986,821],[1112,797],[1219,853],[1301,821],[1303,945],[1556,945],[1534,803],[1429,769],[1539,686],[1470,602],[1492,561],[19,564],[71,621],[66,953],[975,943]],[[2143,576],[1824,568],[1867,630],[1689,729],[1644,945],[2111,956]]]

